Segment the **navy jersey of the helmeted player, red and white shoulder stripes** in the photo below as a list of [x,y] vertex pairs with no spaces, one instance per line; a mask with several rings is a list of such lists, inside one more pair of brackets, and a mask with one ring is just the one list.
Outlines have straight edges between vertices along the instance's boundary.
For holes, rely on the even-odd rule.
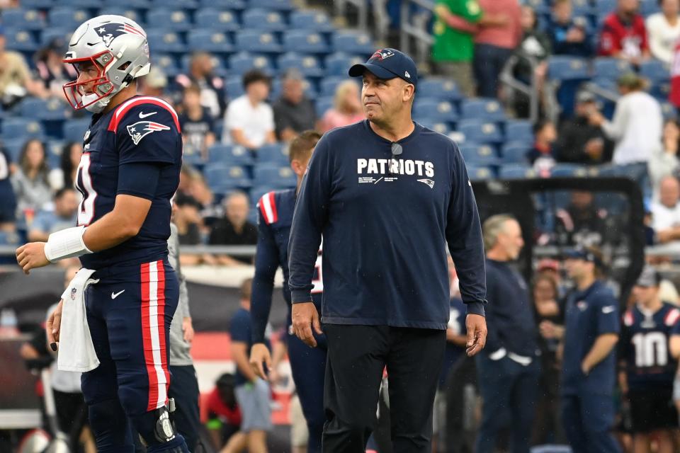
[[76,187],[83,195],[78,224],[113,210],[119,194],[152,201],[139,234],[118,246],[81,256],[86,268],[145,263],[167,254],[170,199],[179,184],[182,138],[177,114],[165,101],[135,96],[93,115],[84,137]]

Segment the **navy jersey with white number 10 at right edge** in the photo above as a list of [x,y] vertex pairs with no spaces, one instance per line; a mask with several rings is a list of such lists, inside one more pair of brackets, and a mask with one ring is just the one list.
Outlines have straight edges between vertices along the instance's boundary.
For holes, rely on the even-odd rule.
[[672,386],[677,362],[668,343],[674,333],[680,333],[679,320],[680,310],[667,302],[655,313],[640,305],[625,312],[618,344],[630,389]]

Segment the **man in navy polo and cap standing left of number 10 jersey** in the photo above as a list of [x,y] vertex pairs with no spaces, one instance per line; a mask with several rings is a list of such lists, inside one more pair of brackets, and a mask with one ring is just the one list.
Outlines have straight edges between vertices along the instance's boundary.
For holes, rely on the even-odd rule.
[[614,420],[618,301],[603,280],[596,248],[567,253],[576,288],[567,296],[562,356],[562,423],[574,452],[619,452]]

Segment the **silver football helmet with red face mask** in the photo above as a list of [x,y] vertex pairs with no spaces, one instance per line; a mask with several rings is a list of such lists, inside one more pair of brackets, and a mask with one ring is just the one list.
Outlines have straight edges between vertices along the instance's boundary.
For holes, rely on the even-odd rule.
[[94,64],[98,76],[65,84],[64,95],[76,110],[85,108],[99,113],[132,79],[149,74],[147,33],[123,16],[90,19],[73,33],[64,57],[64,63],[73,64],[78,74],[79,64],[84,62]]

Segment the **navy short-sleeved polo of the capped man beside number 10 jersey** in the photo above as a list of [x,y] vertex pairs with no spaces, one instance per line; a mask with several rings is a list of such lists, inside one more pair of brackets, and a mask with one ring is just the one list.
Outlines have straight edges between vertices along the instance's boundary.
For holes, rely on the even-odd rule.
[[581,365],[597,337],[618,334],[621,328],[618,301],[604,282],[596,280],[584,291],[567,297],[565,308],[565,343],[562,360],[562,394],[611,394],[616,380],[616,351],[591,369],[588,376]]

